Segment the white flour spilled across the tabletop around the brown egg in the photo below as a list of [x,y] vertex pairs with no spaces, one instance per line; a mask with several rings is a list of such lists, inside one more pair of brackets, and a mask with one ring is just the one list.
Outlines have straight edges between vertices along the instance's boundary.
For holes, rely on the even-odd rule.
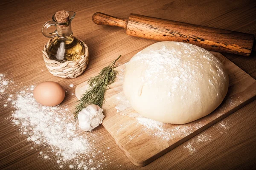
[[102,138],[100,133],[81,131],[67,105],[47,107],[38,104],[32,94],[34,85],[12,93],[14,86],[17,87],[0,74],[0,98],[6,101],[3,107],[13,108],[9,119],[33,144],[31,149],[44,146],[43,151],[38,151],[41,159],[54,161],[60,168],[96,170],[107,165],[109,156],[100,150],[106,147],[96,145]]

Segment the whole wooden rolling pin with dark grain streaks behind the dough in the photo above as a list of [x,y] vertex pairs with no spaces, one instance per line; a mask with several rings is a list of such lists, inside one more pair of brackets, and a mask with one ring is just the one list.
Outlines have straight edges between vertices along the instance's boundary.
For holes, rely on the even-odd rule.
[[158,41],[187,42],[211,51],[249,56],[252,50],[256,50],[253,34],[198,26],[138,14],[130,14],[128,19],[120,19],[97,12],[93,14],[93,22],[98,25],[125,28],[126,34],[135,37]]

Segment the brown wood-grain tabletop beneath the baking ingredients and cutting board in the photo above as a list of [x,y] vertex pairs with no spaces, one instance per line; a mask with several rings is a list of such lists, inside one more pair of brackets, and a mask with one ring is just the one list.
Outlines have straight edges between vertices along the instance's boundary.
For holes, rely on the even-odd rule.
[[[2,0],[0,8],[0,73],[15,82],[17,88],[12,91],[47,80],[59,82],[68,91],[65,104],[70,109],[75,105],[75,96],[71,94],[76,85],[96,75],[119,54],[123,57],[118,63],[122,64],[155,42],[129,37],[122,28],[95,25],[91,20],[95,12],[124,18],[130,13],[143,14],[256,34],[255,0]],[[73,35],[89,48],[88,68],[76,79],[52,76],[42,58],[41,51],[48,38],[41,34],[41,28],[58,10],[77,12],[72,22]],[[256,53],[250,57],[225,53],[224,56],[256,78]],[[75,87],[70,88],[70,83]],[[0,100],[0,169],[57,169],[55,161],[42,160],[38,151],[30,149],[32,143],[10,123],[8,118],[12,108],[4,108],[4,103],[5,100]],[[102,134],[99,146],[111,146],[105,150],[105,155],[111,159],[106,169],[255,169],[255,113],[256,101],[253,101],[145,167],[133,165],[103,126],[94,133]],[[191,153],[186,146],[204,134],[210,135],[211,139],[194,146],[195,152]],[[36,149],[43,150],[44,147],[36,146]]]

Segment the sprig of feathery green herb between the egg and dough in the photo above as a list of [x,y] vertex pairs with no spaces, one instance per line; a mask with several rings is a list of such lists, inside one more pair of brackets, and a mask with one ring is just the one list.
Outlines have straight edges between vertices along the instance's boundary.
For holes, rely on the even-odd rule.
[[111,85],[115,79],[117,71],[114,70],[116,61],[121,57],[117,57],[113,62],[107,67],[103,68],[99,75],[91,77],[88,80],[88,89],[85,94],[79,100],[79,104],[76,105],[76,111],[74,112],[74,118],[77,120],[77,116],[81,110],[83,110],[87,105],[95,104],[102,108],[105,101],[105,91],[109,85]]

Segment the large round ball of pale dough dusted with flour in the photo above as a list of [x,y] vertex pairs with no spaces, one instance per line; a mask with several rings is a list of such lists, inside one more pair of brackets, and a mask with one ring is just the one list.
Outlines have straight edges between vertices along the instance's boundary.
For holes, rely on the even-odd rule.
[[209,51],[183,42],[157,42],[126,65],[123,91],[142,116],[184,124],[214,111],[228,89],[223,64]]

